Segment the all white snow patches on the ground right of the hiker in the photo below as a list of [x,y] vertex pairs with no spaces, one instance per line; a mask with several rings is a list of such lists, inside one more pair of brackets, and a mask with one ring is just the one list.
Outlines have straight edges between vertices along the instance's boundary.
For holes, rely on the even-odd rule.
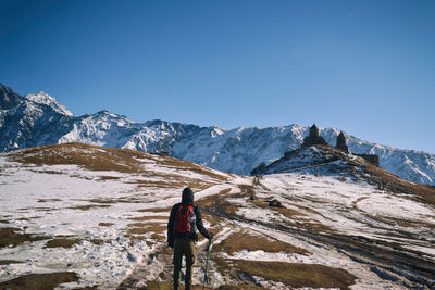
[[[435,261],[432,249],[435,236],[428,230],[435,225],[435,209],[419,202],[411,196],[380,191],[374,186],[355,182],[350,178],[314,176],[306,173],[266,175],[261,177],[260,182],[262,189],[257,188],[258,198],[277,199],[286,209],[294,209],[304,214],[304,216],[295,216],[294,222],[306,225],[319,223],[347,236],[362,236],[381,241],[393,240],[405,248],[420,251],[427,259]],[[240,205],[237,214],[248,220],[271,223],[271,220],[286,219],[271,209],[254,207],[246,203],[246,199],[229,201]],[[389,223],[391,220],[397,220],[397,224],[391,225]],[[400,220],[420,223],[419,225],[427,225],[427,227],[401,226]],[[336,249],[322,247],[296,232],[288,235],[273,228],[247,223],[239,223],[238,227],[274,237],[302,248],[310,254],[268,253],[262,250],[244,249],[231,255],[223,253],[225,259],[321,264],[343,268],[357,276],[359,279],[350,287],[351,289],[406,289],[400,283],[383,279],[369,265],[353,261]],[[401,237],[398,234],[395,236],[396,231],[400,231],[401,235],[408,232],[409,236]],[[275,289],[273,286],[270,287]]]

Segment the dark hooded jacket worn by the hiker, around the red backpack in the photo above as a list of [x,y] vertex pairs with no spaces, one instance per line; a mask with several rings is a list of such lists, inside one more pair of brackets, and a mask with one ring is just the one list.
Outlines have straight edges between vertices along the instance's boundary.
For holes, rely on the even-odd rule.
[[[210,239],[212,237],[212,235],[204,228],[204,226],[202,224],[201,211],[199,210],[198,205],[194,204],[194,192],[189,188],[186,188],[183,191],[182,202],[176,203],[176,204],[174,204],[174,206],[172,206],[170,220],[167,222],[167,243],[172,244],[174,242],[175,238],[185,238],[185,237],[177,237],[177,235],[174,232],[175,216],[176,216],[179,205],[182,205],[182,204],[190,204],[194,206],[197,229],[199,230],[199,232],[201,232],[202,236]],[[196,232],[190,234],[187,238],[195,241],[198,239],[198,234],[196,234]]]

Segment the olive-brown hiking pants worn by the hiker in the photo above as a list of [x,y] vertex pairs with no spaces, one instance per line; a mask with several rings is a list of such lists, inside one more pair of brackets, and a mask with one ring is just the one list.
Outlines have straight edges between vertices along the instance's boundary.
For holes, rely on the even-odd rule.
[[194,274],[195,256],[197,248],[195,242],[188,238],[176,238],[174,240],[174,289],[179,289],[179,272],[182,270],[183,255],[186,256],[186,290],[190,290],[191,276]]

